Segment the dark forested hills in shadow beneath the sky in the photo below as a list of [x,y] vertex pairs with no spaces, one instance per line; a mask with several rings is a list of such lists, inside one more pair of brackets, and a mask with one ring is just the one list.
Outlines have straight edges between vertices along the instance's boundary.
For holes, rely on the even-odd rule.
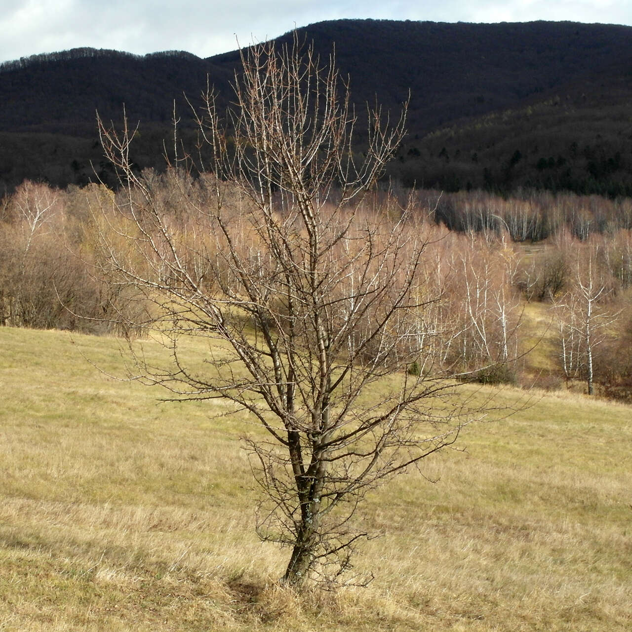
[[[356,104],[395,111],[408,98],[404,183],[511,190],[534,186],[632,195],[632,28],[571,22],[326,21],[300,29],[351,79]],[[284,35],[279,40],[291,37]],[[173,102],[207,74],[222,101],[237,52],[135,56],[76,49],[0,67],[0,186],[28,177],[107,177],[95,111],[142,121],[135,160],[161,164]],[[183,130],[186,133],[186,122]]]

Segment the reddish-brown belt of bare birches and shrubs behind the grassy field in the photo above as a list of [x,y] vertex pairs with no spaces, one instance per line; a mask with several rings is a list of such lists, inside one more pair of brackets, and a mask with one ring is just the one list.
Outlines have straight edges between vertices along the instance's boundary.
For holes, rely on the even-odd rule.
[[[146,171],[141,179],[187,245],[196,274],[196,253],[208,247],[196,243],[204,240],[204,213],[194,221],[187,209],[210,200],[209,178]],[[112,235],[125,241],[119,216],[123,209],[125,220],[132,203],[94,184],[57,190],[25,181],[5,196],[0,324],[123,335],[150,326],[157,315],[150,297],[133,283],[110,282],[111,253],[102,248]],[[238,221],[238,192],[224,204]],[[434,191],[410,200],[391,191],[367,198],[363,212],[397,221],[407,204],[416,217],[410,236],[425,243],[416,279],[420,307],[406,315],[423,350],[411,373],[543,387],[583,382],[588,392],[632,397],[632,200]],[[127,256],[138,256],[142,241],[130,243]],[[257,257],[247,234],[243,248]],[[147,274],[160,275],[164,265],[157,260]],[[208,279],[209,291],[216,281]],[[543,354],[544,363],[533,359]]]

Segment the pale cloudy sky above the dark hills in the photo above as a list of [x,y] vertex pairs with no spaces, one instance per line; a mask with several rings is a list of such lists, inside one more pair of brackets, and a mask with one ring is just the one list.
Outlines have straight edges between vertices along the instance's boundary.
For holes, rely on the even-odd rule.
[[200,57],[339,18],[632,25],[632,0],[0,0],[0,61],[78,46]]

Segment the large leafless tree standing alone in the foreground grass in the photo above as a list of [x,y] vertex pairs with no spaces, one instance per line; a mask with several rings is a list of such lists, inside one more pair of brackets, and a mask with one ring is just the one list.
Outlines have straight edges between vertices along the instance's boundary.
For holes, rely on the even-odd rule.
[[[449,376],[405,370],[427,353],[417,316],[436,298],[419,274],[423,228],[409,207],[365,197],[404,116],[370,110],[360,153],[334,59],[295,37],[242,61],[228,126],[211,91],[197,115],[212,159],[195,181],[180,161],[162,179],[137,174],[133,130],[100,122],[124,185],[97,218],[102,270],[155,304],[171,351],[165,367],[137,356],[139,379],[226,399],[265,430],[246,440],[258,533],[291,547],[288,583],[330,581],[367,535],[353,520],[365,492],[453,444],[473,415],[448,398]],[[217,341],[204,369],[181,336]]]

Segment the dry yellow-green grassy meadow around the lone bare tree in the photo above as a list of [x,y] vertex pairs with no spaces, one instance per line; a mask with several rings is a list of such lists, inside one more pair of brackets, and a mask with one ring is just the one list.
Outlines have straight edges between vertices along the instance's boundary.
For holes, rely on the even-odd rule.
[[438,482],[363,506],[374,582],[299,597],[253,533],[247,420],[97,371],[124,374],[112,338],[0,328],[0,349],[0,631],[632,628],[630,407],[543,393],[471,425],[424,464]]

